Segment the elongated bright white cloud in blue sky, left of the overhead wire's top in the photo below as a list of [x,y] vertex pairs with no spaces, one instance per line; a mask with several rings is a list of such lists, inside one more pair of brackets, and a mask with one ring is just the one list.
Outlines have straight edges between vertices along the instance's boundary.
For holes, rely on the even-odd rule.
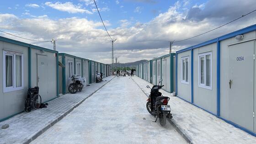
[[88,11],[86,9],[83,9],[81,5],[73,5],[71,2],[61,3],[56,2],[55,4],[52,2],[46,2],[45,5],[52,7],[53,9],[59,10],[59,11],[66,11],[69,13],[87,13],[92,14],[91,11]]

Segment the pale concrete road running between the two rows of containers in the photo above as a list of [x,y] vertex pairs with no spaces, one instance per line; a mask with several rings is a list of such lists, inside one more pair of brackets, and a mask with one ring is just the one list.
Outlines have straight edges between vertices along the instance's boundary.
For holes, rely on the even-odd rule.
[[32,144],[186,143],[169,122],[152,122],[146,100],[132,79],[116,77]]

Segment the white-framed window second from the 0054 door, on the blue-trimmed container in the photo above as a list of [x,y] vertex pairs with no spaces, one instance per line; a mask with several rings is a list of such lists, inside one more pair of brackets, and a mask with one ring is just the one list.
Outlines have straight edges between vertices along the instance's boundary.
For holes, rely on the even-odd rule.
[[181,58],[181,83],[189,84],[189,57]]

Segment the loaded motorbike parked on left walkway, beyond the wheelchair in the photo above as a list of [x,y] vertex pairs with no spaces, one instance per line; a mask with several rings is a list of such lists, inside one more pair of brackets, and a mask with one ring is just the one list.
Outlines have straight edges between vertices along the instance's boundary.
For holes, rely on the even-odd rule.
[[71,94],[75,94],[77,91],[82,91],[86,84],[85,78],[82,78],[80,75],[72,75],[71,80],[73,83],[69,84],[69,92]]

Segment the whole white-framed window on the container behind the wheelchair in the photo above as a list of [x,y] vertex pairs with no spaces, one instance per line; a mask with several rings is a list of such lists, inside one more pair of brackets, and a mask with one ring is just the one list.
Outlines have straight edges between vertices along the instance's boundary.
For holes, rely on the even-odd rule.
[[23,87],[23,53],[3,50],[3,91],[17,91]]

